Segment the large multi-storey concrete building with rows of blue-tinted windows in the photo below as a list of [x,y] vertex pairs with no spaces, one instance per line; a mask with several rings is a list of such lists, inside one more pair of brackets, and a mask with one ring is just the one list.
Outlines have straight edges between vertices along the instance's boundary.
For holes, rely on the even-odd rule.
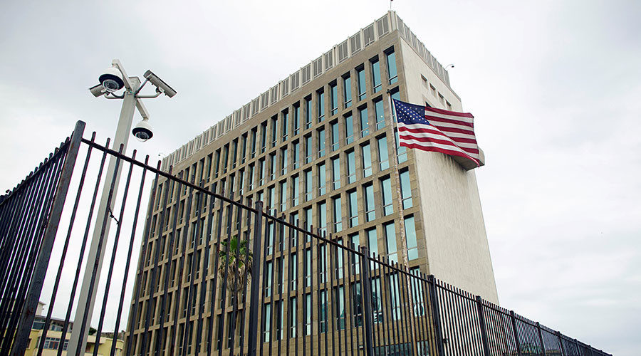
[[[498,303],[474,170],[441,153],[399,147],[390,97],[463,111],[447,70],[395,11],[202,132],[165,157],[161,169],[167,172],[172,167],[174,176],[203,182],[205,189],[225,196],[234,192],[234,199],[243,202],[264,201],[270,214],[314,226],[343,244],[367,246],[410,271],[433,274]],[[161,177],[158,194],[150,201],[149,237],[141,249],[128,324],[133,336],[128,342],[133,355],[146,355],[159,343],[162,355],[206,353],[208,335],[231,338],[228,310],[221,310],[223,302],[211,301],[214,291],[218,291],[216,298],[223,294],[223,278],[212,286],[218,271],[207,276],[199,273],[217,251],[213,239],[206,236],[212,231],[211,226],[205,227],[212,224],[205,221],[209,206],[194,208],[189,189],[174,184],[168,197],[162,197],[164,184],[167,179]],[[178,211],[174,229],[169,229],[168,217],[166,223],[161,221],[165,206],[167,216]],[[189,219],[184,219],[189,209]],[[172,230],[176,238],[170,246]],[[187,236],[190,243],[181,245]],[[158,244],[155,260],[152,251]],[[309,242],[298,247],[307,246]],[[267,249],[264,256],[270,276],[272,271],[298,268],[316,271],[316,258],[291,256],[286,262],[290,266],[282,266],[282,260],[277,266],[277,249]],[[157,276],[152,278],[155,268]],[[296,289],[296,279],[291,278],[289,290]],[[303,287],[299,281],[293,294],[274,297],[271,293],[271,298],[261,299],[261,342],[295,334],[316,337],[326,330],[318,325],[318,313],[310,312],[318,310],[314,305],[318,299],[310,298]],[[215,305],[213,311],[209,305]],[[307,313],[292,313],[301,309]],[[298,320],[298,325],[307,325],[299,326],[305,330],[296,330],[294,322],[293,330],[283,335],[283,319],[301,315],[306,320]],[[298,345],[296,350],[303,355],[300,349]]]

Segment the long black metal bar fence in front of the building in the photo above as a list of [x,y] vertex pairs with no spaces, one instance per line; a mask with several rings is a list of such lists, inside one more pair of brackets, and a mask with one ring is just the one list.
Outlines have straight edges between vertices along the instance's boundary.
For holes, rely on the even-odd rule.
[[[93,347],[85,348],[93,355],[608,355],[393,256],[370,253],[358,239],[325,234],[293,213],[278,216],[262,201],[236,200],[202,170],[162,172],[160,162],[151,167],[149,157],[137,161],[135,152],[127,157],[93,137],[82,139],[87,154],[75,201],[69,223],[58,229],[82,128],[0,201],[2,355],[34,348],[41,355],[51,345],[58,355],[66,350],[107,157],[116,157],[127,176],[122,193],[110,191],[105,213],[118,228],[100,236],[109,263],[97,293]],[[84,189],[93,150],[100,160],[95,186]],[[140,214],[148,190],[147,214]],[[56,231],[66,239],[56,241],[61,261],[47,274]],[[67,257],[69,248],[75,250]],[[46,278],[48,313],[31,340]],[[54,314],[64,315],[63,328],[58,342],[47,344]],[[104,330],[115,333],[110,350],[99,351]]]

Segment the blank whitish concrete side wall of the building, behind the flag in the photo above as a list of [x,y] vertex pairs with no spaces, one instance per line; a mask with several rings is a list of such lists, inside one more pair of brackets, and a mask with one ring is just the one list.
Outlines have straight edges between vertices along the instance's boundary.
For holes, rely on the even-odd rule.
[[[401,39],[402,70],[407,101],[447,109],[432,95],[429,85],[464,111],[452,90]],[[401,68],[399,68],[401,69]],[[424,80],[427,78],[427,86]],[[474,169],[465,171],[438,152],[414,150],[429,273],[484,299],[499,303]],[[482,169],[482,168],[481,168]]]

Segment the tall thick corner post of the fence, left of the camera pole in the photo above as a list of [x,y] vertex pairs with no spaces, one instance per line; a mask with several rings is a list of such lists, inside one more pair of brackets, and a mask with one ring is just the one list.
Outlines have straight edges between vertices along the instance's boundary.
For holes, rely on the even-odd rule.
[[[28,347],[31,325],[33,325],[33,319],[36,318],[36,308],[38,307],[38,300],[40,300],[40,293],[42,292],[47,267],[49,266],[51,249],[53,248],[53,242],[56,239],[56,233],[58,232],[60,216],[62,214],[63,207],[65,206],[65,199],[67,197],[69,184],[71,183],[73,166],[75,165],[76,157],[78,157],[78,150],[82,143],[84,131],[85,122],[76,122],[73,134],[71,134],[71,140],[67,147],[67,154],[62,168],[61,177],[58,181],[58,187],[56,187],[56,195],[54,195],[53,203],[51,204],[51,214],[48,216],[46,230],[43,235],[40,251],[38,252],[38,258],[36,259],[36,264],[33,268],[33,275],[31,275],[31,281],[29,282],[11,355],[24,355],[24,351],[26,350],[26,347]],[[53,308],[53,305],[49,305],[49,308]]]

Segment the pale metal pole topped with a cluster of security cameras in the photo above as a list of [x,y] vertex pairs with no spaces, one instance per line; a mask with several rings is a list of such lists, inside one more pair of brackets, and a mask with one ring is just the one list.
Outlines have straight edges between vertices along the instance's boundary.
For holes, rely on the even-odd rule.
[[[113,150],[118,151],[120,145],[123,145],[123,154],[127,150],[127,142],[129,141],[129,132],[132,132],[138,140],[146,141],[152,137],[150,125],[147,123],[149,114],[145,105],[142,104],[142,98],[157,98],[160,94],[170,98],[176,92],[160,78],[158,78],[150,70],[145,72],[145,82],[140,83],[137,77],[129,77],[123,68],[123,65],[117,59],[112,61],[112,67],[100,75],[100,84],[95,85],[89,90],[96,97],[102,95],[108,99],[123,99],[123,107],[120,109],[120,117],[118,118],[118,127],[116,128],[115,137],[113,140]],[[150,82],[156,86],[155,95],[139,95],[142,87]],[[123,95],[116,95],[115,91],[125,88]],[[138,109],[142,115],[142,121],[139,122],[132,131],[132,122],[135,109]],[[68,343],[67,355],[81,355],[85,352],[87,345],[87,337],[91,322],[91,315],[93,315],[93,306],[98,289],[98,281],[100,281],[100,270],[103,265],[103,258],[105,257],[105,246],[107,237],[109,236],[110,219],[108,217],[108,209],[113,209],[116,193],[118,192],[118,182],[120,182],[120,172],[123,165],[119,164],[116,169],[117,157],[111,156],[107,167],[107,174],[103,183],[103,194],[100,197],[100,205],[98,206],[98,214],[96,214],[95,226],[93,228],[93,236],[91,239],[87,262],[85,264],[85,274],[83,276],[83,283],[80,287],[80,295],[78,297],[78,305],[75,310],[75,318],[73,319],[73,330],[71,338]],[[114,180],[115,177],[115,180]],[[111,204],[108,207],[109,192],[111,184],[113,184],[113,193]],[[103,237],[101,244],[100,238]],[[102,246],[101,246],[102,245]],[[100,251],[98,251],[100,250]],[[118,330],[115,330],[118,332]]]

